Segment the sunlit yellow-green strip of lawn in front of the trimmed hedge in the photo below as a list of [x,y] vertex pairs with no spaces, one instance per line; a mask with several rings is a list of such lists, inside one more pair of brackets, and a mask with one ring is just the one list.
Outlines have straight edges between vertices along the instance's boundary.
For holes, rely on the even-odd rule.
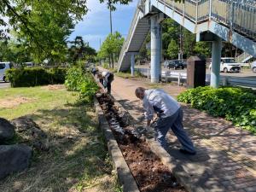
[[14,102],[20,98],[31,100],[30,102],[21,103],[14,108],[1,108],[0,116],[6,119],[14,119],[22,115],[38,113],[38,110],[53,109],[67,102],[75,102],[76,94],[67,92],[65,89],[48,90],[44,87],[35,88],[12,88],[4,89],[0,92],[0,98],[9,102]]

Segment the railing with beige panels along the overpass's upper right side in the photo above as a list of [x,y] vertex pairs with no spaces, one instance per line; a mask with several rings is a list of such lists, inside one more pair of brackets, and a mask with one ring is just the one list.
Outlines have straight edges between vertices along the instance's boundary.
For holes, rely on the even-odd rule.
[[158,0],[183,17],[200,23],[216,20],[231,31],[241,32],[256,40],[256,1],[255,0]]

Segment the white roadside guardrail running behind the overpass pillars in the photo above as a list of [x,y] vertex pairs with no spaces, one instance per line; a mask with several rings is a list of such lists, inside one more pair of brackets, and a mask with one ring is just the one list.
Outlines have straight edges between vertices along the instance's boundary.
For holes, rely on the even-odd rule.
[[[137,72],[143,74],[144,77],[150,79],[150,69],[148,68],[136,68]],[[173,72],[173,71],[166,71],[161,73],[161,79],[169,82],[169,81],[177,81],[178,85],[184,84],[187,82],[187,73],[181,72]],[[206,83],[209,84],[211,79],[211,75],[206,75]],[[243,86],[243,87],[250,87],[256,89],[256,79],[244,79],[244,78],[237,78],[237,77],[221,77],[220,78],[221,85],[232,85],[232,86]]]

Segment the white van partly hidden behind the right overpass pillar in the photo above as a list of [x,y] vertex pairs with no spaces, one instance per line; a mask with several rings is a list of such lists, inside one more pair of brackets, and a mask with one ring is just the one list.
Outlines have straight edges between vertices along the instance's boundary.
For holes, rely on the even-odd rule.
[[[209,66],[210,71],[212,70],[212,62]],[[220,61],[220,70],[219,72],[236,72],[239,73],[241,71],[241,65],[239,63],[236,63],[234,58],[232,57],[223,57]]]

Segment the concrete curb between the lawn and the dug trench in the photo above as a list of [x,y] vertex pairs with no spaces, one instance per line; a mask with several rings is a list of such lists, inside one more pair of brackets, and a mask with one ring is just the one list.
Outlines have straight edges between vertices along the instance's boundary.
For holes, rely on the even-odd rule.
[[111,154],[113,160],[113,166],[118,174],[119,182],[123,186],[124,192],[139,192],[137,183],[131,174],[130,168],[126,164],[126,161],[119,149],[119,145],[113,137],[113,132],[111,131],[108,121],[100,107],[99,102],[95,99],[96,116],[98,120],[98,125],[101,128],[106,141],[108,143],[108,152]]

